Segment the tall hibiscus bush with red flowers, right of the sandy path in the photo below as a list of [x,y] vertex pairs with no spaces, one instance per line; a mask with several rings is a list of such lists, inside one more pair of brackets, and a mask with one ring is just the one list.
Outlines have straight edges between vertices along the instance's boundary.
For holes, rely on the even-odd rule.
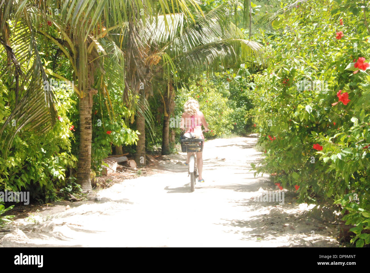
[[[269,68],[256,74],[256,173],[332,206],[370,244],[370,30],[360,1],[309,1],[279,16]],[[277,25],[277,24],[276,24]]]

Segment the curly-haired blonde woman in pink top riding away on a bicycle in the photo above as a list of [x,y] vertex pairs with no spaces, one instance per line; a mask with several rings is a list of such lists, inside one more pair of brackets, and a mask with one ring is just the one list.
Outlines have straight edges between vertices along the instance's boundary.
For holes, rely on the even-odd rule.
[[[206,122],[206,119],[201,111],[199,111],[199,102],[190,99],[184,104],[184,113],[181,116],[181,124],[180,129],[185,130],[186,133],[190,133],[191,135],[195,135],[196,138],[203,138],[202,133],[202,125],[204,126],[204,131],[208,132],[208,124]],[[189,157],[192,153],[188,152],[188,156],[186,159],[186,164],[189,163]],[[196,153],[196,161],[198,166],[198,182],[204,182],[204,179],[202,178],[202,168],[203,168],[203,159],[202,159],[202,152]]]

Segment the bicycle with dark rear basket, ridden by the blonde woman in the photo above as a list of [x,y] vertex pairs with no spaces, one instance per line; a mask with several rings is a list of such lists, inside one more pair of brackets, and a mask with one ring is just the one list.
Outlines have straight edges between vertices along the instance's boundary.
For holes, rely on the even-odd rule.
[[[204,132],[205,130],[202,130]],[[184,132],[182,132],[181,137],[184,136]],[[196,180],[198,179],[198,169],[196,163],[196,152],[203,151],[203,142],[204,139],[202,138],[180,138],[181,142],[181,151],[186,152],[186,156],[188,156],[188,152],[192,154],[189,157],[188,162],[188,176],[190,176],[190,188],[191,192],[194,192]]]

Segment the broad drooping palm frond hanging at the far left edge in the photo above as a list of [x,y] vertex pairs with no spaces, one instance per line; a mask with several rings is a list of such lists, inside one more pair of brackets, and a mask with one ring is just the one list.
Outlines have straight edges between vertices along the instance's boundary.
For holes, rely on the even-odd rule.
[[[2,73],[1,77],[7,78],[4,82],[8,80],[9,88],[17,90],[19,97],[10,116],[0,128],[0,138],[7,129],[2,147],[6,147],[6,151],[21,129],[33,131],[34,134],[43,134],[55,124],[57,118],[54,93],[48,84],[30,19],[24,16],[13,26],[14,35],[9,39],[10,46],[1,41],[11,59],[11,63],[7,61],[1,63],[6,73]],[[4,37],[5,34],[2,35]],[[10,127],[10,123],[15,123],[16,126]]]

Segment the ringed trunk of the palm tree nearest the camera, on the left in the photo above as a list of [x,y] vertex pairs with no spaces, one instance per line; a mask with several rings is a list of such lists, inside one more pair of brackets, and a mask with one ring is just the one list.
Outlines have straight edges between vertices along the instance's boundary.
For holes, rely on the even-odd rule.
[[80,151],[77,164],[77,182],[83,191],[91,191],[91,100],[92,94],[80,98]]

